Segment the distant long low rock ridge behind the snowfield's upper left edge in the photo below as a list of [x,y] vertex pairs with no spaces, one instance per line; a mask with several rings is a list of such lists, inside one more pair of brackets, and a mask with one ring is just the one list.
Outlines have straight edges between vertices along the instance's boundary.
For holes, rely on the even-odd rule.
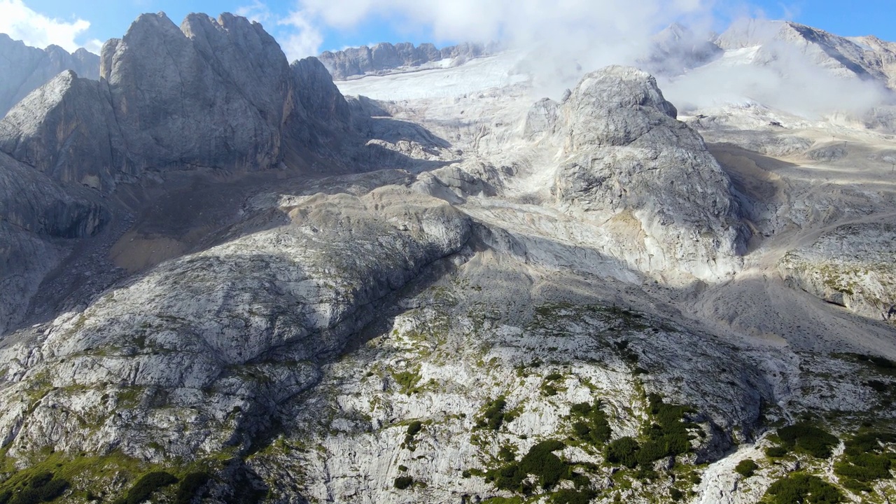
[[437,49],[432,44],[415,47],[409,42],[376,44],[373,48],[361,46],[341,51],[324,51],[318,59],[327,67],[334,79],[343,80],[354,75],[389,73],[401,67],[416,67],[443,59],[485,56],[490,49],[479,44],[460,44]]

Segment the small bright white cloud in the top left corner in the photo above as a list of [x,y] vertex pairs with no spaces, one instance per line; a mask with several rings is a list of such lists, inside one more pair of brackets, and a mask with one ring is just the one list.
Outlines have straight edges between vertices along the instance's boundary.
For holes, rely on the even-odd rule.
[[89,28],[90,22],[82,19],[66,22],[36,13],[22,0],[0,0],[0,33],[35,48],[55,44],[69,52],[81,47],[99,52],[102,46],[99,40],[89,40],[84,44],[75,41]]

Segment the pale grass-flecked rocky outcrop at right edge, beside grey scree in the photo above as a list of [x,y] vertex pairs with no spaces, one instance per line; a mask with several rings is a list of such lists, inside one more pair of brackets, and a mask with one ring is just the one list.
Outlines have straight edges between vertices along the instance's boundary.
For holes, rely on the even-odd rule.
[[896,323],[896,226],[847,224],[788,252],[780,272],[794,287],[859,315]]

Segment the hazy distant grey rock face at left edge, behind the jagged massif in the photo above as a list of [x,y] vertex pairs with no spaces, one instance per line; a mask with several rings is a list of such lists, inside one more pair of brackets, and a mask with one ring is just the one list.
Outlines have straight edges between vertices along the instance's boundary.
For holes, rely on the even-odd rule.
[[99,56],[86,49],[69,54],[58,46],[30,48],[21,40],[0,33],[0,117],[31,91],[53,76],[72,70],[87,79],[99,79]]

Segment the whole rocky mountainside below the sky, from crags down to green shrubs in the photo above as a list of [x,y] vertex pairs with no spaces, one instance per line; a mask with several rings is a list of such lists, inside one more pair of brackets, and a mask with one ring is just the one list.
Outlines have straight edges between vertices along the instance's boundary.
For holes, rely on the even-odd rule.
[[885,500],[896,146],[679,106],[775,65],[737,30],[550,99],[143,14],[0,121],[0,500]]

